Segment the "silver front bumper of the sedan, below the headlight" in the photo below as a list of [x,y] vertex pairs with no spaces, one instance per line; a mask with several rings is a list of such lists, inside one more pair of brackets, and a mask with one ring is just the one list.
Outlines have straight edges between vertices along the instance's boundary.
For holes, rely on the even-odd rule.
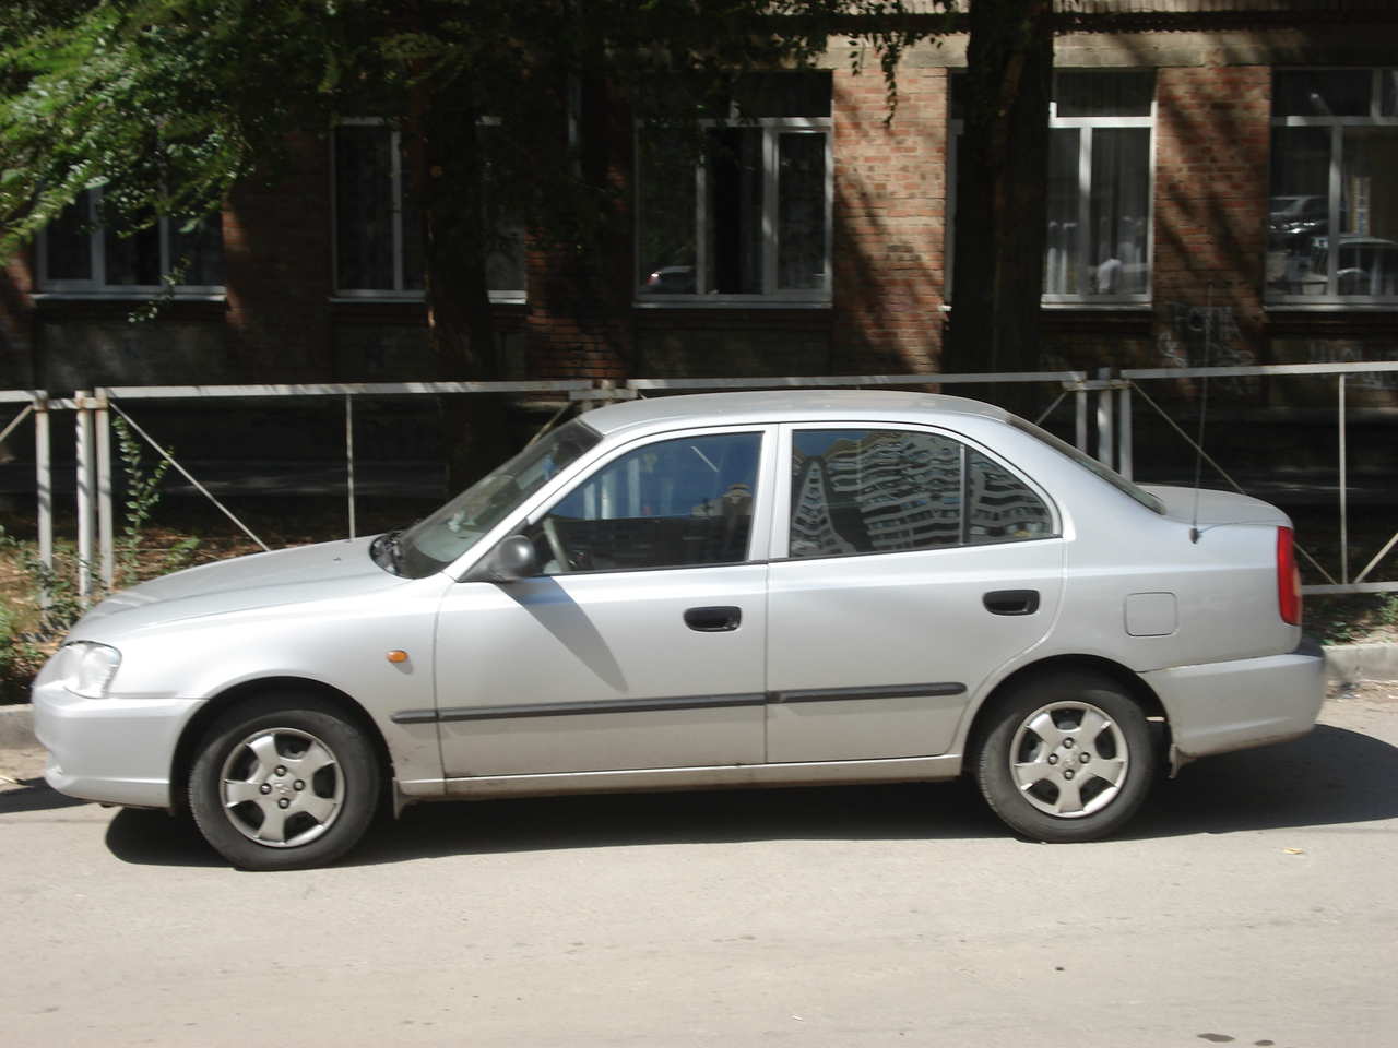
[[133,808],[171,806],[171,767],[200,699],[82,699],[56,681],[34,687],[43,777],[60,794]]

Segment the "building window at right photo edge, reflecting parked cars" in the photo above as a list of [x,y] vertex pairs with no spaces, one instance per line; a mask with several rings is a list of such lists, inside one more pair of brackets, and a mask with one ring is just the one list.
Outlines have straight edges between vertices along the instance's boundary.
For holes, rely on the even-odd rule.
[[1398,68],[1278,70],[1267,298],[1398,300]]

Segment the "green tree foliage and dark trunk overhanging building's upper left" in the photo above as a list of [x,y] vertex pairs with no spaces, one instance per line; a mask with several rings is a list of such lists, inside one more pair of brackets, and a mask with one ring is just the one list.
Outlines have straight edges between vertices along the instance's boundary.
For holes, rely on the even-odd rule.
[[941,27],[905,0],[20,0],[0,14],[0,256],[94,186],[115,226],[193,224],[294,137],[380,115],[419,197],[438,348],[491,377],[471,347],[489,310],[457,303],[488,303],[496,231],[596,257],[619,214],[607,158],[568,131],[579,96],[646,116],[656,78],[684,75],[699,89],[672,115],[692,117],[833,36],[856,67],[877,56],[892,112],[900,54]]

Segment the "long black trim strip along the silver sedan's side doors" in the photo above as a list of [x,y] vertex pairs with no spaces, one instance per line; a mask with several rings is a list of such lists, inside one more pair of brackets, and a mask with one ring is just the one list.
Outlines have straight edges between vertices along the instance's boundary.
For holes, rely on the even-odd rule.
[[604,699],[583,703],[521,703],[517,706],[457,706],[445,710],[400,710],[394,724],[453,724],[459,721],[502,721],[517,717],[577,717],[598,713],[657,713],[661,710],[717,710],[731,706],[769,703],[830,703],[850,699],[920,699],[965,694],[966,685],[945,682],[898,685],[892,687],[816,687],[795,692],[748,694],[698,694],[665,699]]

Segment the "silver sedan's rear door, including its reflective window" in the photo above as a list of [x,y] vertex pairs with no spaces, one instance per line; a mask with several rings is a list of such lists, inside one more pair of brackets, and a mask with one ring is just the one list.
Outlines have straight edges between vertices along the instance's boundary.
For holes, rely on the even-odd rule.
[[1047,633],[1050,500],[955,435],[783,426],[768,597],[768,760],[946,752],[990,674]]

